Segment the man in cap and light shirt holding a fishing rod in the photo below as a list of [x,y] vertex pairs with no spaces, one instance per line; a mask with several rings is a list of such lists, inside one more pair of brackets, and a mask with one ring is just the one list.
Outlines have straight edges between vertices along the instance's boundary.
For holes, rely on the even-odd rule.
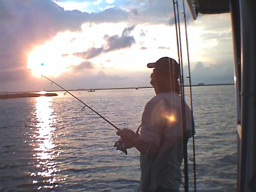
[[[139,191],[179,191],[183,144],[191,137],[191,114],[185,103],[186,133],[183,133],[182,104],[178,78],[178,63],[162,57],[154,63],[150,83],[156,96],[145,105],[141,119],[141,134],[130,129],[117,132],[127,148],[140,152],[141,178]],[[186,141],[183,135],[186,134]]]

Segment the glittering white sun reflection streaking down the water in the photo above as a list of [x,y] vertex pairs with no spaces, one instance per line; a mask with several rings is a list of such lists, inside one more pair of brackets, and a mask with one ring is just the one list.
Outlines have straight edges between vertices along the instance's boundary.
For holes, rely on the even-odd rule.
[[60,151],[54,142],[56,127],[54,110],[52,108],[51,97],[37,97],[34,112],[34,133],[32,143],[34,148],[33,157],[36,159],[36,172],[31,173],[35,177],[33,184],[37,184],[38,190],[41,188],[52,189],[57,187],[56,181],[59,180],[57,173],[60,171],[56,167],[56,158]]

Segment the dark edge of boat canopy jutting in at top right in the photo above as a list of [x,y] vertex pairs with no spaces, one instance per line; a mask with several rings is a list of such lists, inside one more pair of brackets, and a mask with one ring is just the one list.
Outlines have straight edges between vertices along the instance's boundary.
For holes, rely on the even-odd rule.
[[218,14],[229,12],[229,0],[187,0],[188,8],[194,19],[198,13]]

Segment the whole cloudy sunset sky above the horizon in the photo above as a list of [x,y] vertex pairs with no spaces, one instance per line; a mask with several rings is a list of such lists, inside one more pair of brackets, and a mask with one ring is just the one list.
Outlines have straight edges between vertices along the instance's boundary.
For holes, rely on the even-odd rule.
[[[233,83],[230,14],[185,13],[192,84]],[[178,59],[172,1],[0,0],[0,26],[0,92],[58,90],[41,74],[66,89],[145,87],[148,62]]]

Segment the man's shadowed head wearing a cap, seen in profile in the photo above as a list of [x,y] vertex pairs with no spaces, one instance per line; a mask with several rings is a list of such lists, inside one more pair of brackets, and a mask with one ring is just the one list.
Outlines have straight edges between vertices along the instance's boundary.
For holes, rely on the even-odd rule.
[[156,62],[147,64],[148,68],[154,68],[150,83],[160,91],[175,90],[179,92],[177,79],[180,76],[180,66],[173,58],[162,57]]

